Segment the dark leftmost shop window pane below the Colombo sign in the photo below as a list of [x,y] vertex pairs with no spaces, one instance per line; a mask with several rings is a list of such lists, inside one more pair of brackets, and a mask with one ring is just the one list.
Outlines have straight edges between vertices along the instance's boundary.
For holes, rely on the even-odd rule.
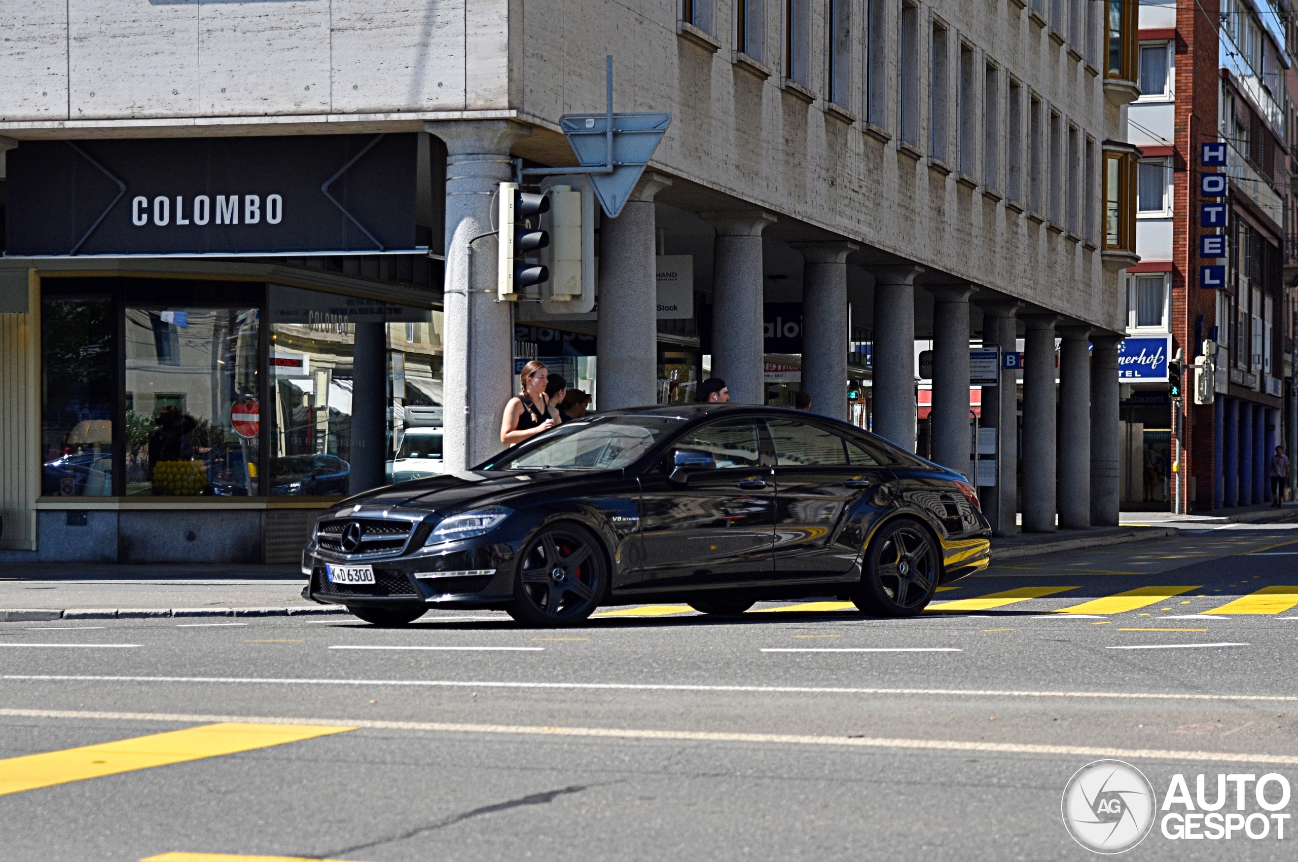
[[40,308],[42,489],[113,493],[113,304],[47,299]]

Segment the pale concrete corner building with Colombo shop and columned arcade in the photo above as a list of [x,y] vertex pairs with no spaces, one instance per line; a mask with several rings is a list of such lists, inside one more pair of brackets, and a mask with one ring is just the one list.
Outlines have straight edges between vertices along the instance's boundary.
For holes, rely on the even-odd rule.
[[[549,343],[563,344],[556,356],[574,360],[570,376],[591,382],[598,408],[688,400],[706,374],[724,376],[736,400],[783,404],[780,375],[797,375],[789,382],[810,392],[813,410],[867,425],[970,475],[999,532],[1018,530],[1019,511],[1024,528],[1038,531],[1116,523],[1118,423],[1107,421],[1107,405],[1118,401],[1114,347],[1127,323],[1125,270],[1138,260],[1136,151],[1125,143],[1125,105],[1138,95],[1129,4],[652,0],[524,9],[479,0],[32,0],[0,9],[0,27],[17,34],[3,48],[12,73],[0,86],[10,236],[0,262],[0,351],[17,369],[5,378],[5,404],[22,417],[0,431],[0,457],[13,465],[0,483],[0,553],[52,558],[62,552],[44,548],[67,547],[79,513],[88,511],[95,530],[117,536],[105,558],[166,560],[196,547],[186,539],[192,528],[178,532],[180,522],[217,508],[248,524],[260,518],[241,547],[278,558],[265,549],[271,513],[299,511],[305,523],[337,493],[374,484],[384,457],[400,461],[402,417],[413,415],[406,406],[441,408],[445,469],[491,457],[518,360],[549,356]],[[672,119],[623,212],[598,218],[598,310],[565,315],[536,302],[498,302],[496,240],[484,236],[496,188],[520,166],[575,165],[558,121],[604,110],[605,55],[613,57],[615,110],[668,112]],[[165,165],[169,152],[190,152],[186,140],[204,142],[208,164],[226,152],[270,164],[269,154],[258,158],[260,147],[291,152],[301,142],[304,153],[332,153],[331,136],[350,138],[336,156],[321,156],[337,167],[324,187],[361,167],[343,197],[330,197],[352,223],[326,240],[265,240],[249,252],[247,243],[227,241],[228,231],[208,230],[201,251],[177,240],[179,251],[160,253],[161,245],[131,245],[144,234],[122,228],[127,240],[113,245],[114,219],[152,231],[171,218],[179,225],[199,212],[186,206],[209,197],[179,188],[136,195],[126,188],[130,178],[119,180],[122,199],[103,210],[103,226],[67,217],[77,230],[67,228],[66,247],[38,253],[32,235],[40,231],[23,223],[31,213],[56,218],[30,199],[58,170],[73,170],[58,165],[90,171],[88,162],[116,177],[113,158],[148,152]],[[387,154],[365,161],[373,147]],[[274,164],[286,177],[296,170],[291,161]],[[405,177],[413,199],[401,199],[410,230],[396,225],[400,239],[375,227],[396,218],[380,212],[384,200],[396,200],[383,191],[388,180],[370,179],[383,171]],[[274,208],[283,208],[286,225],[305,212],[269,186],[227,191],[243,196],[244,225],[253,214],[262,219],[258,230],[269,230]],[[80,192],[66,193],[82,204]],[[214,206],[234,204],[218,193]],[[337,217],[321,206],[313,216]],[[654,270],[667,260],[688,266],[692,317],[665,318],[649,301],[654,289],[661,296]],[[93,299],[105,304],[105,352],[118,358],[103,373],[118,380],[118,397],[100,413],[86,406],[88,396],[66,401],[70,425],[60,431],[40,387],[53,367],[42,309],[80,314],[82,306],[49,304],[91,301],[80,288],[92,278],[118,279],[99,284]],[[171,293],[149,292],[164,279]],[[217,280],[270,287],[209,289]],[[293,317],[283,297],[297,295],[284,289],[327,301],[302,299]],[[188,414],[166,400],[174,393],[162,384],[149,399],[123,388],[136,360],[110,330],[138,319],[156,354],[136,358],[164,367],[173,356],[167,339],[193,338],[188,322],[206,321],[199,310],[217,293],[228,313],[261,309],[247,321],[265,323],[244,335],[248,345],[260,339],[260,358],[248,347],[248,375],[213,384],[213,392],[225,387],[210,401],[225,413],[213,408],[206,421],[225,430],[199,440],[212,445],[177,432],[186,453],[204,450],[206,479],[193,486],[202,488],[160,493],[154,450],[166,441],[149,437],[148,423],[165,437],[166,423]],[[179,308],[186,302],[191,310]],[[361,306],[386,327],[367,322],[375,318]],[[778,308],[798,315],[779,318],[779,332],[770,319]],[[204,326],[234,338],[234,318],[217,317]],[[793,340],[780,343],[788,332]],[[210,339],[215,344],[217,335]],[[931,340],[941,357],[923,419],[916,339]],[[1024,339],[1022,410],[1012,369],[981,389],[974,410],[999,440],[994,479],[979,482],[967,351],[997,344],[1019,353]],[[435,352],[417,348],[432,343]],[[324,358],[326,345],[345,358]],[[218,353],[213,347],[204,356]],[[213,358],[213,369],[218,361],[225,363]],[[279,380],[289,382],[287,395],[275,388]],[[386,428],[374,417],[382,401],[367,401],[384,389]],[[258,402],[262,425],[239,436],[234,417]],[[130,422],[144,422],[139,440]],[[93,495],[86,478],[60,478],[64,467],[49,467],[88,448],[86,470],[104,474],[92,476]],[[139,454],[145,449],[148,458]],[[223,487],[213,479],[213,450],[225,453],[223,470],[243,476],[222,500],[213,492]],[[184,454],[191,457],[199,458]],[[341,458],[349,478],[322,462],[302,474],[309,478],[292,479],[280,466],[291,457]],[[166,513],[154,526],[166,518],[178,526],[157,527],[166,535],[152,544],[123,541],[134,534],[121,524],[138,511]],[[132,556],[136,547],[151,550]]]

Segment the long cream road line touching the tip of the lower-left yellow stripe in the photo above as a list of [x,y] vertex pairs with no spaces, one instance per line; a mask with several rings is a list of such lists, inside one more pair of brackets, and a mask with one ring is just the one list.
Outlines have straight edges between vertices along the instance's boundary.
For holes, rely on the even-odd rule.
[[[594,739],[643,739],[691,743],[748,743],[774,745],[828,745],[842,748],[896,748],[931,752],[985,752],[990,754],[1051,754],[1060,757],[1140,758],[1160,761],[1208,761],[1224,763],[1285,763],[1298,766],[1294,754],[1243,754],[1233,752],[1189,752],[1149,748],[1098,748],[1090,745],[1035,745],[1027,743],[974,743],[935,739],[888,739],[868,736],[810,736],[801,733],[726,733],[713,731],[655,731],[611,727],[546,727],[536,724],[458,724],[443,722],[382,722],[319,718],[261,718],[228,715],[177,715],[153,713],[88,713],[65,710],[0,710],[25,718],[96,718],[106,720],[157,722],[256,722],[258,724],[306,726],[313,730],[395,730],[436,733],[484,733],[515,736],[567,736]],[[75,749],[73,749],[75,750]],[[274,857],[271,857],[274,858]]]

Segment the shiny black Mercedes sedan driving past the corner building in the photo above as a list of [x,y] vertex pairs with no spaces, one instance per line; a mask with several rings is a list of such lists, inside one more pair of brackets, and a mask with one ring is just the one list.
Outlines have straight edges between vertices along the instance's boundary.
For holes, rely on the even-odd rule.
[[315,523],[302,595],[379,624],[495,608],[566,626],[601,605],[739,614],[831,595],[909,617],[989,556],[958,473],[809,413],[668,405],[344,500]]

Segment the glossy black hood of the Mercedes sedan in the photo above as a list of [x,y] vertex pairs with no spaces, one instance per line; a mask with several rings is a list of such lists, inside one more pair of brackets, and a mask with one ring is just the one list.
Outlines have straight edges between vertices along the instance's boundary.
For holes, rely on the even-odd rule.
[[400,506],[404,509],[427,509],[439,514],[450,514],[465,509],[482,506],[509,506],[519,497],[530,496],[541,488],[546,492],[561,487],[588,483],[594,475],[601,478],[620,476],[620,470],[479,470],[462,475],[440,475],[427,479],[414,479],[375,488],[345,504],[370,506]]

